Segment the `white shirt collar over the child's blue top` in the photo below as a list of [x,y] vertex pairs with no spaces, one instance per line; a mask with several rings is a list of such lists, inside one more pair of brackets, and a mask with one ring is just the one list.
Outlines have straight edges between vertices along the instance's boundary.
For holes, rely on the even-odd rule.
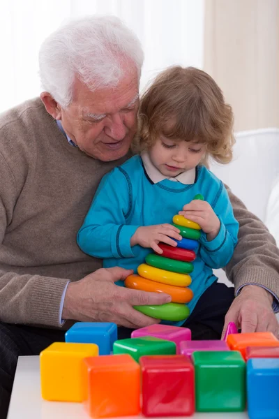
[[195,168],[191,170],[186,170],[186,172],[180,173],[180,175],[176,177],[167,177],[162,175],[160,170],[158,170],[149,157],[148,152],[142,152],[142,163],[144,164],[144,169],[146,170],[147,175],[149,175],[150,179],[154,184],[162,182],[164,179],[172,180],[173,182],[180,182],[184,185],[190,185],[195,183],[196,178],[196,170]]

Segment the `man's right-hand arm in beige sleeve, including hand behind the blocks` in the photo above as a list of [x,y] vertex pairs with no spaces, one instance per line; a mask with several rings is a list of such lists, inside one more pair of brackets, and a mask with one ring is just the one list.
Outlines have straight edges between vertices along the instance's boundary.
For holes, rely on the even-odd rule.
[[[227,186],[226,186],[227,187]],[[279,250],[269,230],[227,188],[239,221],[239,243],[226,267],[236,298],[225,316],[223,335],[233,321],[242,332],[273,332],[279,337]]]

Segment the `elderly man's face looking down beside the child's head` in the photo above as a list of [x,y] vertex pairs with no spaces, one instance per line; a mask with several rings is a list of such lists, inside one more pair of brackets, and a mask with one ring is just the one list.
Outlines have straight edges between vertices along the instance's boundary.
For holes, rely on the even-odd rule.
[[61,123],[82,152],[101,161],[125,156],[137,130],[139,93],[137,71],[127,73],[116,87],[90,91],[75,80],[73,102],[61,108]]

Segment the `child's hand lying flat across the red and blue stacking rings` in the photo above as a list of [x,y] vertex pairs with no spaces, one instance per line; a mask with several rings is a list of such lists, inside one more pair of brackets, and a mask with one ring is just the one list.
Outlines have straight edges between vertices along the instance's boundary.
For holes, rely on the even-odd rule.
[[139,227],[131,238],[130,245],[140,244],[142,247],[151,247],[156,253],[163,253],[163,250],[158,247],[158,243],[163,242],[175,247],[177,243],[170,237],[181,240],[182,237],[179,233],[179,229],[170,224]]

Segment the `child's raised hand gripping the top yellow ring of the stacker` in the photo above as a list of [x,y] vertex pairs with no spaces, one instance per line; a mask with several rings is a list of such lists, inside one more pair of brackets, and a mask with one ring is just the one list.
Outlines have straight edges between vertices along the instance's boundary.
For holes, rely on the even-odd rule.
[[220,230],[220,220],[211,205],[203,200],[193,200],[190,204],[184,205],[183,211],[179,211],[179,215],[185,216],[190,221],[195,221],[201,226],[206,238],[210,242],[215,239]]

